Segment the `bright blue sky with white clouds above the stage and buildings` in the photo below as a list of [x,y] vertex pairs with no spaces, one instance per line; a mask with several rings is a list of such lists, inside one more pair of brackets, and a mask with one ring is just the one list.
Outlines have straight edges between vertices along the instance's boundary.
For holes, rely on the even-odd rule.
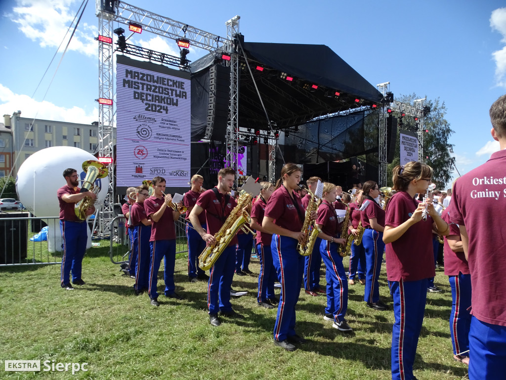
[[[506,7],[501,1],[341,2],[129,0],[129,4],[222,36],[225,21],[241,16],[249,42],[323,44],[369,83],[390,82],[394,95],[439,97],[455,133],[461,174],[499,149],[490,136],[488,109],[506,93]],[[91,123],[98,119],[98,34],[90,0],[77,33],[32,94],[81,0],[0,0],[0,112]],[[190,5],[191,4],[191,5]],[[128,34],[127,34],[128,35]],[[168,53],[172,40],[143,32],[130,43]],[[66,41],[63,46],[66,45]],[[191,49],[194,61],[205,52]]]

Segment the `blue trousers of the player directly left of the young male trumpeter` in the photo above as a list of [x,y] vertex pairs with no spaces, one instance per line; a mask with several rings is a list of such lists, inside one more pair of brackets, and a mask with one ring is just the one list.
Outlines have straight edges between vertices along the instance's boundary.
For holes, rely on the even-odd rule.
[[134,289],[147,290],[149,289],[149,263],[151,262],[151,247],[149,245],[151,226],[141,223],[130,228],[132,229],[132,250],[137,257]]

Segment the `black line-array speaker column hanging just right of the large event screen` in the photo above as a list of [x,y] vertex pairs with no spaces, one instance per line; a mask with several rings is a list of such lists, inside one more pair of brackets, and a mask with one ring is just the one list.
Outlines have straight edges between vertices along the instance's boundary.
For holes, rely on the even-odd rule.
[[205,138],[225,141],[230,103],[230,68],[214,65],[209,68],[209,101]]

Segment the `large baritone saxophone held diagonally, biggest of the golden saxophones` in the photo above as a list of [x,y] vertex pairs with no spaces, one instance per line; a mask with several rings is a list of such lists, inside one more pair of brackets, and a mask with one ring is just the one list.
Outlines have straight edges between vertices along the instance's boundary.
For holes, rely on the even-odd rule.
[[206,246],[200,256],[198,256],[198,266],[200,269],[207,271],[213,267],[218,257],[220,257],[225,248],[228,247],[239,229],[243,230],[246,234],[248,232],[253,234],[245,224],[251,222],[249,214],[251,213],[252,199],[253,197],[245,191],[240,192],[237,206],[230,212],[230,215],[227,217],[227,220],[225,220],[220,231],[215,234],[216,245]]

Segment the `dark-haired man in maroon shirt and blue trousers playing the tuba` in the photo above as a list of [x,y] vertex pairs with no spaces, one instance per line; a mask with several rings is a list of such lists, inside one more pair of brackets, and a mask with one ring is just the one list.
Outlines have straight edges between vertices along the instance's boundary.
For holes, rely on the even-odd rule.
[[[69,281],[70,271],[72,270],[72,283],[74,285],[84,285],[81,278],[82,258],[85,257],[86,243],[88,241],[88,223],[86,220],[80,220],[74,211],[77,202],[86,197],[93,201],[97,199],[94,192],[86,191],[80,193],[77,171],[72,168],[63,171],[63,178],[67,181],[65,186],[58,189],[57,196],[60,203],[60,231],[62,233],[62,267],[61,267],[61,287],[66,290],[74,289]],[[95,212],[92,206],[86,211],[86,216]]]

